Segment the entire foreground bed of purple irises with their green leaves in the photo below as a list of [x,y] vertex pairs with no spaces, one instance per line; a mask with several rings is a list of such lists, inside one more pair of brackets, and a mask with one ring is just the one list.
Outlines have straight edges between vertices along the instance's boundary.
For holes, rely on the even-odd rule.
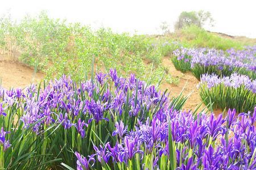
[[81,83],[64,75],[24,90],[1,88],[0,166],[256,169],[256,108],[216,117],[181,111],[186,99],[170,100],[113,69]]

